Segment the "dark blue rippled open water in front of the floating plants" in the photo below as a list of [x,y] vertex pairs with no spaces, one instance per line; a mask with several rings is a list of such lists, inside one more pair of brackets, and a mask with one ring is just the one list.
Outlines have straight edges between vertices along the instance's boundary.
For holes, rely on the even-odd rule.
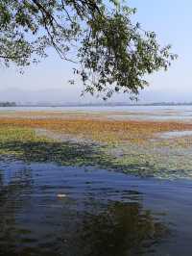
[[191,181],[90,170],[1,161],[0,255],[192,255]]

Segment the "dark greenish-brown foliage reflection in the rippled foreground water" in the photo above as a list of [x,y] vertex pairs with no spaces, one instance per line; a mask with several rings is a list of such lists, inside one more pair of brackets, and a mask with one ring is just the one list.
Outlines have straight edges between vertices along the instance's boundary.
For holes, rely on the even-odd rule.
[[78,232],[84,255],[143,255],[167,234],[167,228],[139,203],[110,203],[100,215],[84,218]]

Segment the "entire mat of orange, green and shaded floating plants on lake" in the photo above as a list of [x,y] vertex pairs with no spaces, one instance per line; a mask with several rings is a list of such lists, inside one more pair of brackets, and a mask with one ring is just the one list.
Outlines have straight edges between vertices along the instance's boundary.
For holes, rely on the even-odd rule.
[[102,166],[139,175],[191,177],[192,137],[161,136],[190,131],[191,123],[108,120],[102,114],[15,115],[0,117],[1,155],[28,162]]

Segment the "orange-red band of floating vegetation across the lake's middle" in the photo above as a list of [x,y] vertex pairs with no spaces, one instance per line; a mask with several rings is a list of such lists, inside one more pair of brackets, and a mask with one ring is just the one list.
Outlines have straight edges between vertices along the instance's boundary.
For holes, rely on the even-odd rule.
[[[95,119],[77,113],[77,118],[70,114],[67,118],[56,118],[55,115],[42,118],[0,117],[1,126],[24,128],[41,128],[81,138],[103,142],[144,142],[156,137],[156,134],[170,131],[192,130],[192,123],[177,121],[144,121],[144,120],[108,120]],[[46,114],[47,115],[47,114]],[[39,116],[39,115],[38,115]]]

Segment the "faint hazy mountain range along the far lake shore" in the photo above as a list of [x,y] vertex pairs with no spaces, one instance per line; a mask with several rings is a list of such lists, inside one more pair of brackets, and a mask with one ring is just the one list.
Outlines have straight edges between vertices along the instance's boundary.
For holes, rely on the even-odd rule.
[[[191,104],[191,93],[180,93],[173,91],[143,90],[139,95],[138,102],[132,102],[126,94],[116,94],[104,102],[101,99],[86,95],[80,96],[76,90],[20,90],[9,88],[0,90],[0,102],[16,102],[17,105],[173,105]],[[179,102],[179,103],[178,103]]]

